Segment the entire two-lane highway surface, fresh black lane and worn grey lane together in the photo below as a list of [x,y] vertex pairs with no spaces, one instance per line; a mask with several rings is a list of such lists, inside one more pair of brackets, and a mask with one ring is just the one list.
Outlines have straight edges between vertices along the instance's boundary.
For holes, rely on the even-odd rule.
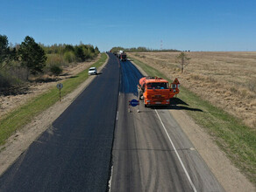
[[102,74],[0,176],[0,191],[106,191],[109,178],[118,192],[223,191],[167,109],[141,102],[129,112],[142,75],[109,55]]

